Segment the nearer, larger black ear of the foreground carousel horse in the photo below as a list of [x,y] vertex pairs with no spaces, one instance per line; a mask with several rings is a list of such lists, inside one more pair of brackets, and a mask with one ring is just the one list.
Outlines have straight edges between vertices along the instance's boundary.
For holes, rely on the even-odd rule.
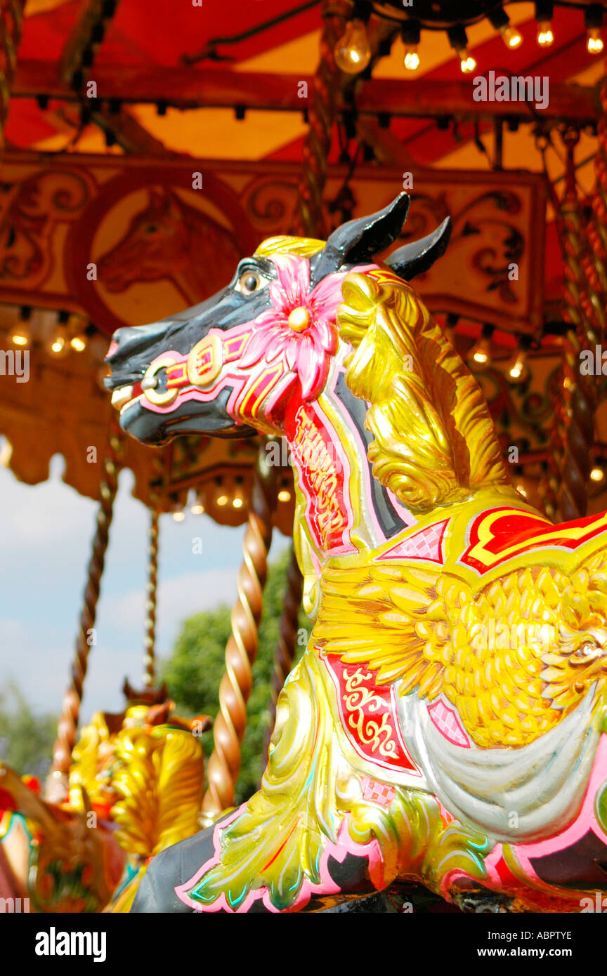
[[377,214],[348,221],[334,230],[317,255],[314,280],[320,281],[345,264],[370,264],[398,237],[407,220],[409,202],[409,195],[400,193]]

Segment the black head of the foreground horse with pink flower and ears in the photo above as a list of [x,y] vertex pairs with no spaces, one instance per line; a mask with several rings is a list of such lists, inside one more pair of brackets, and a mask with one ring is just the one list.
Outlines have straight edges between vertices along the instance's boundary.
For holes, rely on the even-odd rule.
[[[339,227],[326,242],[265,240],[222,291],[150,325],[119,329],[107,355],[120,423],[148,443],[180,433],[281,431],[288,400],[309,401],[326,384],[339,345],[336,315],[352,271],[373,268],[407,216],[402,193],[380,213]],[[438,230],[388,259],[411,278],[444,251]]]

